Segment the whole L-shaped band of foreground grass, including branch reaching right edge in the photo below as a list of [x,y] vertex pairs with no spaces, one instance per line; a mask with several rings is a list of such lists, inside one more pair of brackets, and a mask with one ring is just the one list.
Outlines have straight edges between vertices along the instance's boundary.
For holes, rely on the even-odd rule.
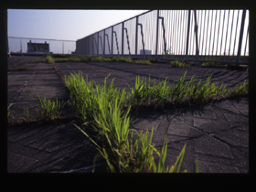
[[[176,164],[165,169],[167,143],[164,142],[162,150],[157,151],[155,145],[151,143],[154,127],[150,143],[147,143],[148,131],[137,133],[135,130],[129,129],[131,107],[151,104],[163,106],[168,98],[173,104],[179,104],[182,101],[198,104],[229,96],[230,93],[231,95],[243,94],[248,87],[248,83],[244,81],[243,85],[229,91],[226,86],[222,88],[223,83],[220,87],[217,83],[210,85],[211,76],[208,76],[205,81],[204,78],[199,80],[197,85],[194,85],[196,80],[194,77],[185,82],[186,74],[187,71],[176,84],[175,82],[170,84],[167,79],[159,80],[160,82],[156,84],[154,80],[150,80],[150,77],[140,80],[138,76],[134,88],[130,87],[132,93],[113,88],[113,80],[107,85],[106,80],[109,76],[105,78],[103,85],[98,83],[95,87],[93,87],[93,81],[88,81],[87,76],[84,79],[81,73],[73,73],[68,78],[65,76],[65,83],[69,88],[71,100],[74,101],[73,105],[80,112],[80,120],[84,124],[90,123],[101,136],[102,146],[99,146],[77,126],[82,133],[91,139],[91,142],[98,146],[100,155],[95,156],[93,165],[98,158],[103,157],[113,173],[152,171],[155,173],[178,173],[185,154],[186,144],[178,156]],[[135,143],[132,143],[133,132],[137,133],[138,136]],[[130,139],[129,133],[132,133]],[[158,168],[154,162],[155,155],[160,158]],[[196,172],[198,172],[197,160]]]

